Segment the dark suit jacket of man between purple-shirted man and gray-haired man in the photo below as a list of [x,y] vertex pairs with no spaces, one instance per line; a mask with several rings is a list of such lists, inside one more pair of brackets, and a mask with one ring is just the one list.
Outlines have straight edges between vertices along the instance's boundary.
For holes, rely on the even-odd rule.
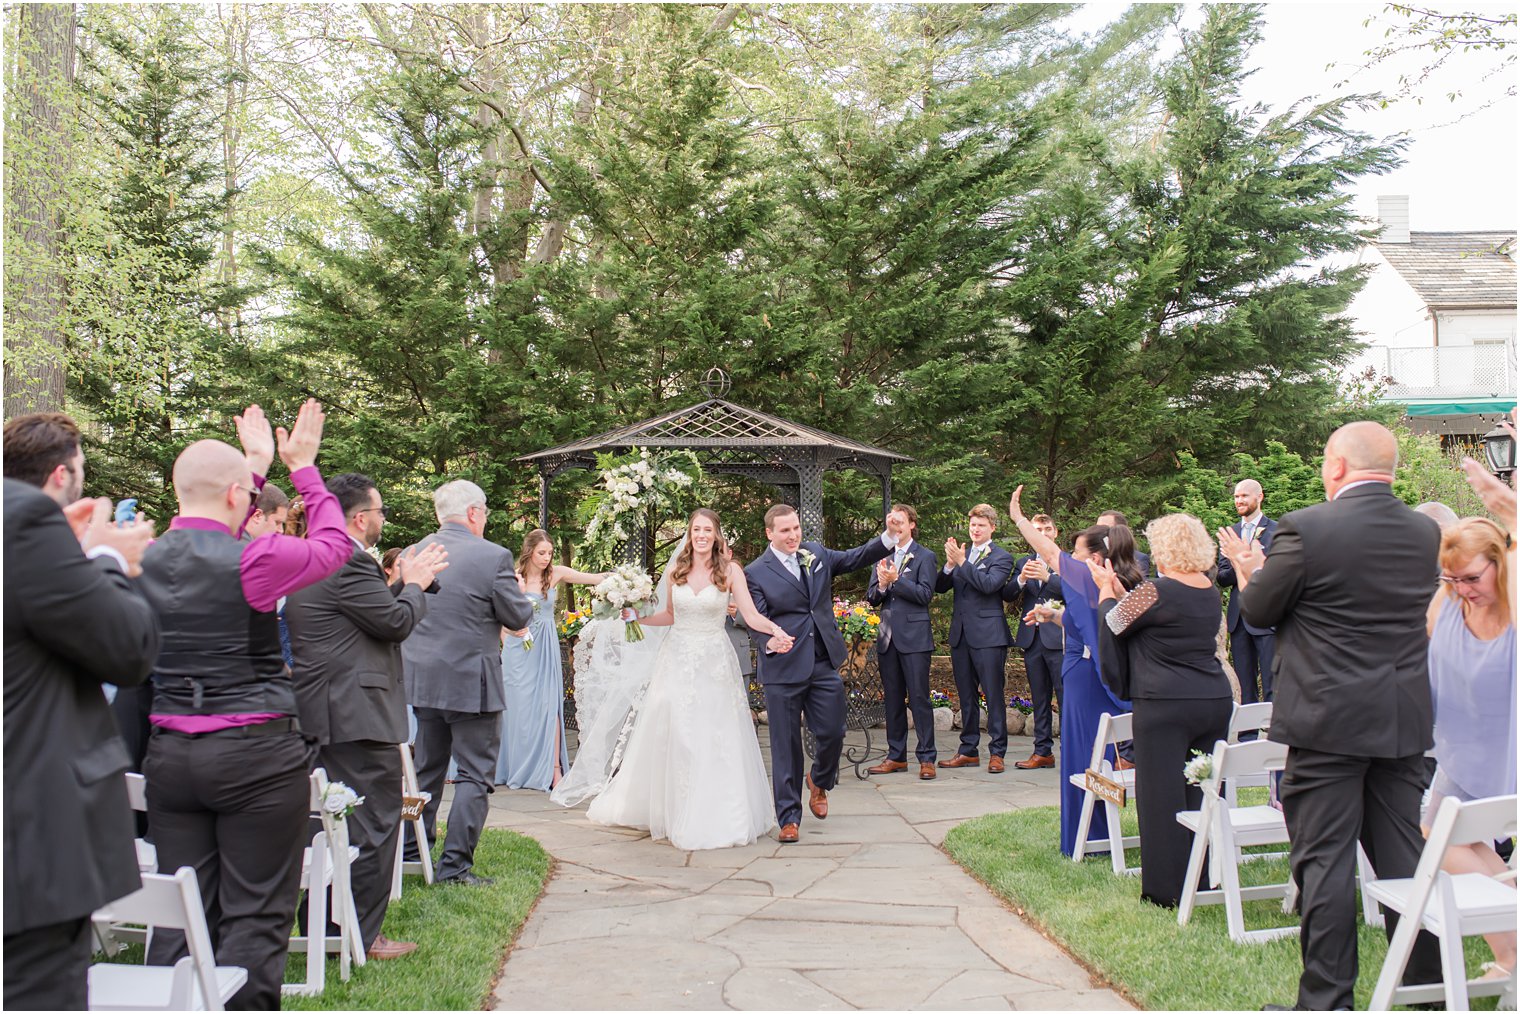
[[302,731],[322,745],[406,742],[401,642],[427,613],[426,599],[415,584],[386,585],[380,564],[357,547],[336,575],[290,594]]

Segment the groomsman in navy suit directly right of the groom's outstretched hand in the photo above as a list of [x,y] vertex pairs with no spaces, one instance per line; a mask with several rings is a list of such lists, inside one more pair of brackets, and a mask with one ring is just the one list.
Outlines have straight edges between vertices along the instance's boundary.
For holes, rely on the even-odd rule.
[[[914,541],[918,511],[894,503],[886,531],[897,537],[891,558],[879,559],[865,600],[880,608],[876,658],[882,667],[882,704],[886,710],[886,760],[869,774],[907,771],[907,711],[918,733],[918,777],[935,777],[935,711],[929,702],[929,655],[935,649],[929,600],[935,596],[939,561]],[[904,705],[906,698],[906,705]]]

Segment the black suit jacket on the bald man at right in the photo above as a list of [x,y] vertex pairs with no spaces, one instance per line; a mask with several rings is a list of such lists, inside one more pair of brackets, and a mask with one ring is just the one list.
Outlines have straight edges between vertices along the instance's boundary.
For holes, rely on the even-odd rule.
[[1278,518],[1240,593],[1277,628],[1271,737],[1332,754],[1408,757],[1432,745],[1426,608],[1441,529],[1386,483]]

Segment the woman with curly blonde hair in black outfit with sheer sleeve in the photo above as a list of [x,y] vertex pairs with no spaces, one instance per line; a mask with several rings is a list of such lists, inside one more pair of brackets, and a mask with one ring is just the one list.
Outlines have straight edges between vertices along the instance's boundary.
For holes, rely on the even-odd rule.
[[1230,683],[1214,655],[1219,590],[1208,576],[1218,558],[1202,521],[1169,514],[1146,526],[1161,576],[1129,594],[1111,570],[1094,567],[1099,587],[1099,672],[1134,701],[1135,812],[1140,816],[1140,897],[1176,908],[1192,835],[1178,810],[1202,806],[1183,766],[1192,751],[1211,754],[1230,728]]

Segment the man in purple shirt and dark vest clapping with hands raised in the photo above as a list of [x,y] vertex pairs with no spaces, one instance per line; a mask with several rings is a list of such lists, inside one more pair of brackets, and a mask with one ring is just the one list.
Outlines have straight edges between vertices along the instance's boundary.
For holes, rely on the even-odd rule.
[[[190,444],[175,461],[179,515],[143,556],[140,585],[163,625],[154,666],[147,818],[164,870],[195,867],[216,962],[248,970],[230,1009],[277,1009],[301,879],[312,751],[295,719],[275,604],[336,573],[353,552],[318,473],[322,409],[301,407],[280,458],[307,508],[307,537],[239,534],[274,461],[255,404],[237,417],[243,452]],[[185,953],[155,933],[150,964]]]

